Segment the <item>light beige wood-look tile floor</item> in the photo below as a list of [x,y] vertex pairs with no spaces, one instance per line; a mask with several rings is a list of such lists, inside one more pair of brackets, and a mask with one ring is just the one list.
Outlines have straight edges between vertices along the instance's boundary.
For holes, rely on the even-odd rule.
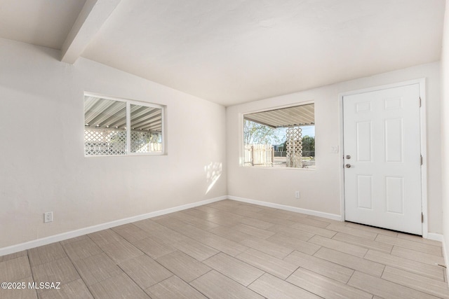
[[0,256],[0,298],[449,298],[441,243],[222,200]]

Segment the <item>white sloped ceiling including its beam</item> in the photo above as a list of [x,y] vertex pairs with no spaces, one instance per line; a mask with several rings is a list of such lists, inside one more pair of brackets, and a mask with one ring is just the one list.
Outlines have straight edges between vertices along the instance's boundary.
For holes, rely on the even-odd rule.
[[[85,4],[86,2],[86,4]],[[0,37],[225,106],[440,59],[444,0],[1,0]]]

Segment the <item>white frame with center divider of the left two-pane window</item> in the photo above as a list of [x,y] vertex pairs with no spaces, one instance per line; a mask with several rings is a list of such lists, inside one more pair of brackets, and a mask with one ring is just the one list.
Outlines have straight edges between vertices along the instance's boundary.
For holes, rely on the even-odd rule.
[[[126,103],[126,153],[123,155],[86,155],[86,150],[83,146],[84,151],[84,157],[86,158],[92,158],[92,157],[128,157],[128,156],[156,156],[156,155],[167,155],[166,153],[166,105],[161,104],[155,104],[155,103],[149,103],[149,102],[142,102],[142,101],[136,101],[134,99],[123,99],[119,97],[110,97],[107,95],[100,95],[98,93],[93,92],[84,92],[83,93],[83,132],[86,125],[86,118],[85,118],[85,112],[84,112],[84,99],[85,97],[98,97],[101,99],[109,99],[112,101],[117,102],[124,102]],[[138,105],[138,106],[145,106],[145,107],[152,107],[156,109],[161,109],[161,151],[154,151],[154,152],[148,152],[148,153],[132,153],[131,152],[131,105]],[[83,137],[84,140],[84,137]],[[86,141],[84,141],[85,143]]]

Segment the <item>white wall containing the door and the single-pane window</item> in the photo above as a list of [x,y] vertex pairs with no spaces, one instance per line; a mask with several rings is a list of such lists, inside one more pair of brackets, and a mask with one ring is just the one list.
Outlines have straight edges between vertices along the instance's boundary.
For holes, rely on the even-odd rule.
[[[427,78],[429,232],[441,233],[439,62],[227,107],[228,194],[340,215],[342,153],[330,153],[330,147],[339,145],[341,138],[339,93],[417,78]],[[239,166],[239,139],[242,130],[239,127],[239,117],[242,113],[308,101],[315,102],[316,170]],[[295,190],[300,190],[300,200],[295,200]]]

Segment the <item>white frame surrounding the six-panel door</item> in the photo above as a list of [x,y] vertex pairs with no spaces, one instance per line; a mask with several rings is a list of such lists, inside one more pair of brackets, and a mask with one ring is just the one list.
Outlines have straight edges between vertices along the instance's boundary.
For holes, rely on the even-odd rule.
[[398,88],[407,85],[419,84],[420,86],[420,97],[421,97],[421,109],[420,109],[420,141],[421,141],[421,155],[422,155],[422,165],[421,165],[421,210],[424,216],[422,221],[422,237],[428,238],[428,212],[427,212],[427,119],[426,119],[426,78],[420,78],[410,81],[403,81],[393,84],[380,85],[371,88],[363,88],[358,90],[351,90],[348,92],[340,92],[338,94],[339,98],[339,111],[340,111],[340,213],[341,220],[345,220],[345,207],[344,207],[344,115],[343,115],[343,98],[348,95],[357,95],[365,92],[373,92],[377,90],[385,90],[388,88]]

